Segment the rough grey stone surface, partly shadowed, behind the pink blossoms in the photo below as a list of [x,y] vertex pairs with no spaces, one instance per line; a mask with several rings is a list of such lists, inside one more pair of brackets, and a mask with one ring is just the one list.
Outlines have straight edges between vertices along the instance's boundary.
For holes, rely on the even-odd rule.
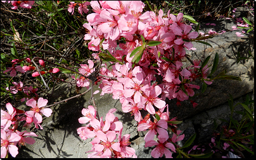
[[[231,20],[219,20],[211,23],[216,23],[217,26],[213,28],[212,26],[202,25],[201,31],[204,32],[210,29],[221,31],[224,28],[231,29],[231,26],[235,25]],[[250,48],[250,46],[253,46],[253,39],[250,36],[236,37],[236,31],[241,32],[241,30],[230,31],[208,40],[212,47],[202,43],[194,43],[195,52],[187,52],[187,54],[191,55],[190,59],[198,57],[198,59],[204,60],[208,55],[211,55],[208,64],[212,63],[215,53],[218,52],[219,67],[214,76],[227,69],[227,74],[240,76],[242,81],[216,80],[207,87],[205,93],[202,94],[201,91],[196,91],[196,93],[199,93],[199,96],[195,98],[196,103],[199,104],[196,108],[193,108],[189,101],[183,101],[181,106],[176,106],[176,101],[174,100],[167,101],[171,117],[178,117],[178,120],[183,120],[183,123],[179,125],[179,129],[184,130],[183,133],[186,137],[179,144],[181,146],[194,133],[197,134],[195,143],[207,142],[210,139],[214,120],[217,124],[221,124],[219,118],[228,118],[230,114],[229,106],[227,105],[229,93],[236,99],[235,103],[238,101],[243,102],[245,94],[253,94],[254,61],[249,59],[236,64],[238,51],[241,55],[246,56],[248,55],[248,50],[250,50],[254,56],[254,48]],[[186,62],[185,65],[189,66],[190,64]],[[98,89],[97,86],[94,86],[94,91],[96,89]],[[82,89],[80,93],[85,90]],[[65,100],[75,94],[74,86],[72,87],[70,84],[60,85],[54,90],[53,96],[48,98],[48,105],[56,101]],[[23,146],[16,157],[87,157],[87,154],[89,154],[87,151],[92,146],[89,143],[91,139],[80,139],[77,129],[84,126],[78,122],[78,118],[82,117],[82,108],[87,108],[88,105],[91,105],[90,98],[91,93],[86,93],[79,98],[52,106],[53,115],[49,118],[43,118],[42,126],[44,130],[34,130],[35,134],[38,135],[35,138],[35,144]],[[144,147],[143,137],[146,131],[137,131],[136,121],[131,117],[131,114],[122,112],[120,102],[113,100],[110,94],[105,94],[104,96],[96,94],[94,99],[96,106],[98,106],[99,117],[104,117],[104,114],[111,108],[117,108],[114,114],[123,122],[123,135],[131,134],[131,146],[136,150],[136,155],[138,157],[151,157],[150,153],[153,147]],[[24,106],[20,107],[23,108]],[[238,110],[241,110],[241,107],[238,107]]]

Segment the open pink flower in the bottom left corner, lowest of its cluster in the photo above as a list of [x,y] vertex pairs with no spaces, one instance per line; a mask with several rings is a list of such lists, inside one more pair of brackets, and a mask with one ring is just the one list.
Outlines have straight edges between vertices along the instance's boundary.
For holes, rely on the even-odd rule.
[[20,140],[20,136],[16,133],[5,132],[1,129],[1,158],[5,158],[9,151],[11,156],[16,157],[18,154],[17,142]]

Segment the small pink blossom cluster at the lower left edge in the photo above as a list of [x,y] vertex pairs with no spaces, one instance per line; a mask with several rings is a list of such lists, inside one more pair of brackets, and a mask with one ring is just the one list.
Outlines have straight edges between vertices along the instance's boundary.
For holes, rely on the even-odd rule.
[[34,144],[35,140],[28,136],[37,135],[34,132],[27,132],[26,130],[20,132],[17,130],[19,122],[25,120],[25,127],[31,127],[32,122],[35,128],[41,127],[42,115],[49,117],[52,113],[50,108],[44,108],[48,100],[39,98],[35,101],[33,98],[27,101],[26,105],[31,106],[29,111],[19,110],[14,108],[11,103],[6,104],[7,111],[1,110],[1,158],[8,156],[16,157],[18,154],[18,146],[25,146],[25,144]]

